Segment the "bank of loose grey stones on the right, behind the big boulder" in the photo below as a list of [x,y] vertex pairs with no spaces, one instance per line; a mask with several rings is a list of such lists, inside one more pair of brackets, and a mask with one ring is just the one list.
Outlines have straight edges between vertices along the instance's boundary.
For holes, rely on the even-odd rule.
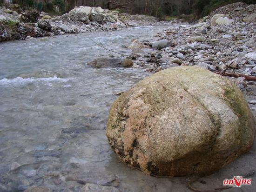
[[[229,4],[194,25],[170,26],[154,39],[133,40],[134,67],[158,72],[174,66],[200,66],[211,71],[256,76],[256,5]],[[148,48],[155,50],[148,50]],[[231,78],[240,89],[254,84]]]

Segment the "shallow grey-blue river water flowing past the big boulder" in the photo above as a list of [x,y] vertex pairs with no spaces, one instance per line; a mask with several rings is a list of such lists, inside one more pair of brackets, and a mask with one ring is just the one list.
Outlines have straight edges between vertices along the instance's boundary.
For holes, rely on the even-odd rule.
[[[120,162],[108,145],[105,129],[117,97],[113,93],[128,90],[150,73],[86,66],[106,55],[89,38],[129,53],[123,45],[152,39],[167,27],[0,44],[0,192],[22,192],[32,185],[79,192],[86,183],[115,186],[122,192],[190,191],[187,178],[145,175]],[[232,176],[222,173],[198,185],[207,180],[221,186],[219,178]]]

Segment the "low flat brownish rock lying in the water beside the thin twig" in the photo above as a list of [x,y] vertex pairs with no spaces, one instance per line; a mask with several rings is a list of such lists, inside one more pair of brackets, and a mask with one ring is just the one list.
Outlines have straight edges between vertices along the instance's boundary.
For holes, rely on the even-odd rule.
[[89,66],[101,68],[101,67],[128,67],[133,66],[133,62],[130,59],[115,58],[115,57],[100,57],[96,60],[89,62]]

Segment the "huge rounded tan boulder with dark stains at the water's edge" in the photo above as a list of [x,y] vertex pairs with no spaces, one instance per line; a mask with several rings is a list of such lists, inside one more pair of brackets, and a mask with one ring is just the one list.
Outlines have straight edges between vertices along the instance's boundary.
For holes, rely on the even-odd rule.
[[247,152],[255,122],[242,92],[201,67],[165,69],[115,100],[110,146],[154,176],[207,176]]

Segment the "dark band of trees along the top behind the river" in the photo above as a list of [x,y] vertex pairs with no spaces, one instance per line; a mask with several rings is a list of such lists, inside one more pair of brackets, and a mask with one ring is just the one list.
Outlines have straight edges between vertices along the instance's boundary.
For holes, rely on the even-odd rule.
[[102,7],[121,9],[131,14],[146,14],[161,17],[163,15],[177,16],[195,14],[197,17],[208,15],[218,7],[229,3],[245,2],[255,4],[256,0],[14,0],[23,6],[35,7],[38,2],[45,5],[57,5],[63,11],[70,11],[76,6]]

